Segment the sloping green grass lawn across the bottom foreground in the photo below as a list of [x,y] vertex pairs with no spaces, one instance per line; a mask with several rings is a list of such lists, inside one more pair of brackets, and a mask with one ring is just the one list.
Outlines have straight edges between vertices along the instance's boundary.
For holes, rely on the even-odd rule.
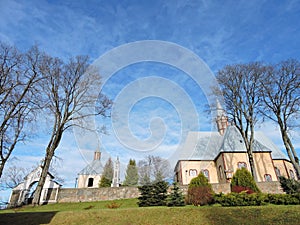
[[300,206],[256,207],[146,207],[136,199],[60,203],[16,210],[1,210],[0,224],[300,224]]

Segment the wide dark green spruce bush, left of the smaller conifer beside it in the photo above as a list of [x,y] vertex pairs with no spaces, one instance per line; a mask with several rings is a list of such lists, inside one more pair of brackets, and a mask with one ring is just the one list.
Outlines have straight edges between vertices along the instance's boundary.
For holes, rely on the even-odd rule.
[[167,189],[168,184],[165,181],[139,187],[141,192],[141,196],[138,198],[139,207],[166,205]]

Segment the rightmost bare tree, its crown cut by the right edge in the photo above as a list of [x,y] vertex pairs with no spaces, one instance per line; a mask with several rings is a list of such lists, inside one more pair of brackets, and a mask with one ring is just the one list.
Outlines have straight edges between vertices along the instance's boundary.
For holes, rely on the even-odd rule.
[[300,177],[299,158],[290,136],[290,131],[300,125],[300,62],[287,60],[272,66],[261,85],[261,113],[278,124],[286,152]]

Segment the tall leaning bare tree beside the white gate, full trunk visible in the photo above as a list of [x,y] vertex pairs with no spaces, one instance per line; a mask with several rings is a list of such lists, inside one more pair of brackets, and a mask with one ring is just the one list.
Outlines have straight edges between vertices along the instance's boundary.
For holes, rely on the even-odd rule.
[[47,56],[41,64],[41,72],[46,78],[42,86],[45,94],[45,109],[53,126],[33,204],[40,202],[47,172],[63,133],[74,126],[75,121],[84,117],[95,114],[106,116],[107,110],[111,107],[111,101],[101,95],[97,112],[81,113],[84,112],[84,108],[95,104],[99,97],[98,93],[89,92],[90,86],[100,87],[100,80],[95,70],[89,69],[88,57],[78,56],[64,63],[57,58]]

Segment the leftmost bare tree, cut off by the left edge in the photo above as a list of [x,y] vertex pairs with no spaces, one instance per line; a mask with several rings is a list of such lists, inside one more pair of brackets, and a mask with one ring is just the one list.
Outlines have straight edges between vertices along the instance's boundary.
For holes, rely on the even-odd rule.
[[33,119],[35,86],[41,77],[38,64],[42,54],[33,47],[25,54],[0,43],[0,177],[16,144],[24,141]]

